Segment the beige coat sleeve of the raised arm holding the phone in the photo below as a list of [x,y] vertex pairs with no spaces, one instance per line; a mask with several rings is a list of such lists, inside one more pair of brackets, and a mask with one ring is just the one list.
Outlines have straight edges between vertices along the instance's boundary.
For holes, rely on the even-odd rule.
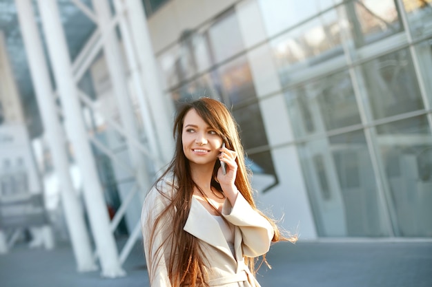
[[242,193],[237,195],[234,206],[228,200],[224,202],[222,215],[242,231],[245,256],[257,257],[268,252],[274,234],[273,226],[252,208]]

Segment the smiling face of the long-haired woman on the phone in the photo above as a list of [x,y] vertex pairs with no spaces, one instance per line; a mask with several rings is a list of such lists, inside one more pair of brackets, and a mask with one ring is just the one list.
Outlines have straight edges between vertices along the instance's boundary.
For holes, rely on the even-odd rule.
[[208,165],[213,168],[222,138],[198,114],[190,109],[184,117],[183,131],[181,132],[183,152],[190,162],[190,166]]

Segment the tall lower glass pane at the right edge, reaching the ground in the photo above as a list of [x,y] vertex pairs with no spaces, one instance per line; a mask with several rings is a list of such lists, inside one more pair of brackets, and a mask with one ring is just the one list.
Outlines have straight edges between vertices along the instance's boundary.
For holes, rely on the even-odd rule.
[[426,116],[377,126],[401,236],[432,236],[432,136]]

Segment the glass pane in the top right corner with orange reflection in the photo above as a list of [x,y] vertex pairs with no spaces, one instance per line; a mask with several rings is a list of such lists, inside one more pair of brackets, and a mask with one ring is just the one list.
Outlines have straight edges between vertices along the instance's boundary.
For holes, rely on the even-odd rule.
[[414,39],[425,36],[432,29],[432,0],[403,0],[404,9]]

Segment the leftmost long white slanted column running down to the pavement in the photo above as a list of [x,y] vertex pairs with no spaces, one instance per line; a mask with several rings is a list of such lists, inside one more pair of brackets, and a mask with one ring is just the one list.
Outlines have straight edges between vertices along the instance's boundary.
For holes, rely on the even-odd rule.
[[[77,270],[80,272],[97,270],[95,260],[91,256],[92,248],[84,213],[70,178],[66,138],[63,137],[64,133],[57,116],[57,107],[52,92],[48,67],[46,66],[47,62],[32,11],[32,1],[16,0],[16,3],[37,103],[41,111],[43,127],[52,153],[55,171],[59,176],[61,201],[77,262]],[[53,246],[52,242],[46,243],[47,248],[51,246]]]

